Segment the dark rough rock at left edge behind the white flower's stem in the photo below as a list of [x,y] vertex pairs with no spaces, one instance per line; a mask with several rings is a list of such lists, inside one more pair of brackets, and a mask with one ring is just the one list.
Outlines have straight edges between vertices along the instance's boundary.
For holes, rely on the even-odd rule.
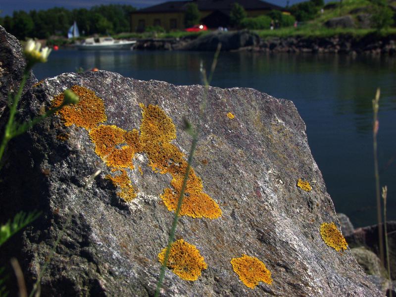
[[[8,93],[17,92],[26,63],[19,41],[0,26],[0,117],[6,106]],[[32,74],[24,92],[37,82]]]

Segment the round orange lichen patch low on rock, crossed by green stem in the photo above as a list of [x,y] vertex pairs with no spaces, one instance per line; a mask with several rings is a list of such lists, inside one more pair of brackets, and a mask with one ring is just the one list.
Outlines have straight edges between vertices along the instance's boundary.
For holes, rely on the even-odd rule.
[[[163,264],[166,247],[158,254]],[[186,281],[196,281],[207,265],[196,246],[179,239],[172,244],[166,266]]]

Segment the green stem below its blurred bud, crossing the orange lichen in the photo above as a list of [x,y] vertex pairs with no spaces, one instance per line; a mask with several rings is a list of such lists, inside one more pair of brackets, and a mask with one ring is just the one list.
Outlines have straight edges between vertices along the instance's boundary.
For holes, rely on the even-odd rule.
[[180,191],[180,196],[179,196],[179,200],[177,202],[177,208],[176,208],[176,211],[175,211],[175,217],[173,219],[172,228],[171,228],[171,231],[170,231],[170,234],[169,234],[168,246],[166,247],[165,257],[164,257],[164,260],[163,260],[162,265],[161,265],[161,272],[159,274],[157,287],[155,289],[155,295],[154,295],[155,297],[159,296],[159,291],[162,288],[162,282],[163,282],[163,279],[164,279],[164,276],[165,276],[166,264],[168,262],[170,249],[171,249],[173,240],[175,238],[175,231],[176,231],[177,222],[179,220],[179,213],[180,213],[180,209],[182,208],[184,192],[186,190],[187,181],[189,179],[191,163],[193,162],[193,156],[194,156],[194,153],[195,153],[195,149],[197,148],[197,143],[198,143],[198,135],[197,135],[197,133],[194,133],[193,134],[193,142],[192,142],[191,148],[190,148],[189,158],[188,158],[188,161],[187,161],[186,174],[184,175],[183,186],[182,186],[182,189]]

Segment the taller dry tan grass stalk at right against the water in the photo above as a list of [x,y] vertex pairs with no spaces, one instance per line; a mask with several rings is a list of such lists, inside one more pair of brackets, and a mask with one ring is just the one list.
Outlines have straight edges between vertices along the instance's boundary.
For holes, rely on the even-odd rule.
[[[384,242],[383,242],[383,230],[382,230],[382,212],[381,212],[381,195],[380,195],[380,174],[378,169],[378,151],[377,151],[377,134],[379,128],[378,121],[378,109],[380,100],[380,89],[377,89],[375,99],[373,99],[373,153],[374,153],[374,175],[375,175],[375,194],[377,199],[377,222],[378,222],[378,247],[380,252],[380,260],[382,265],[384,261]],[[385,266],[385,265],[384,265]]]

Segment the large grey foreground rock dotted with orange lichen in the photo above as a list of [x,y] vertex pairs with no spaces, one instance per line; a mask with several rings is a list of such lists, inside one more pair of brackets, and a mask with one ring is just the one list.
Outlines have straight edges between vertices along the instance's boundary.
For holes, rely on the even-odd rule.
[[153,296],[191,143],[184,116],[198,149],[161,296],[381,296],[346,247],[293,102],[98,71],[35,85],[21,117],[66,88],[80,103],[10,142],[1,171],[0,217],[43,214],[0,266],[17,256],[31,286],[61,235],[43,297]]

